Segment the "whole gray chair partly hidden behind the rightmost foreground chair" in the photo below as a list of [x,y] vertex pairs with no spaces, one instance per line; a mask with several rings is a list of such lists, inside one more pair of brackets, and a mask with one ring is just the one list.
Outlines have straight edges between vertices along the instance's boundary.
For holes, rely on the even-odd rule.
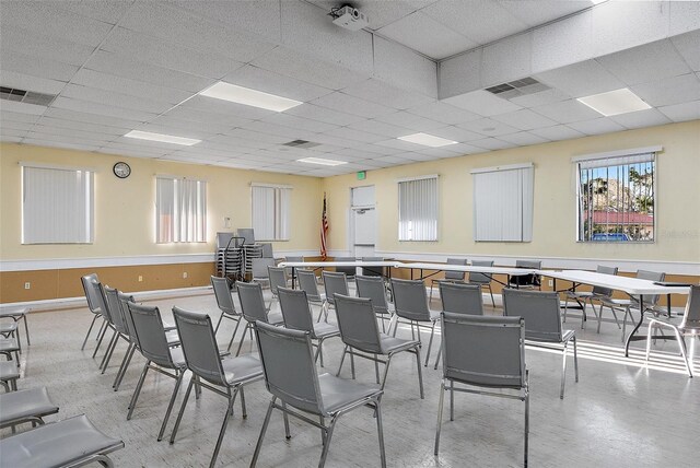
[[564,398],[567,381],[567,354],[569,342],[573,343],[573,366],[579,382],[579,355],[576,354],[576,334],[561,329],[561,308],[556,292],[503,290],[503,315],[525,319],[525,342],[534,348],[544,348],[561,352],[561,389],[559,398]]

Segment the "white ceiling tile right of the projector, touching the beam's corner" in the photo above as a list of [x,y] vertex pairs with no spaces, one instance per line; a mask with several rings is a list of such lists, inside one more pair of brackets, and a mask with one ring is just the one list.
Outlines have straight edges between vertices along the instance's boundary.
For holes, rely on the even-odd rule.
[[[425,34],[427,31],[430,34]],[[421,12],[404,16],[382,27],[378,33],[436,60],[478,45]]]

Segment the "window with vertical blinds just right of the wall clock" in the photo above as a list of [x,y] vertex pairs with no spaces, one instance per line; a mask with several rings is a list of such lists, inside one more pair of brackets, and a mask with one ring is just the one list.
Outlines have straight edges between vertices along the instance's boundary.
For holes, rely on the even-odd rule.
[[155,242],[207,242],[206,182],[156,176],[155,191]]

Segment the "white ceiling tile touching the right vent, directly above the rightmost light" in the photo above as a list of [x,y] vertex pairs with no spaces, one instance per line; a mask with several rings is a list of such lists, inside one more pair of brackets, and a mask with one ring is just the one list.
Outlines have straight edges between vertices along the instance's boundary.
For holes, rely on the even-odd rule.
[[574,97],[625,87],[621,80],[615,78],[595,60],[586,60],[557,70],[537,73],[535,79]]

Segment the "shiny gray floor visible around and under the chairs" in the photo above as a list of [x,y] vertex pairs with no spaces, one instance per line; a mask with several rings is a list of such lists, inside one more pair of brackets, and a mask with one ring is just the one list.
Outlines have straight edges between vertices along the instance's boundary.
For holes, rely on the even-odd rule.
[[[178,305],[210,313],[214,319],[219,317],[211,293],[148,303],[159,305],[164,316],[170,315],[173,305]],[[438,307],[438,302],[433,305]],[[487,307],[487,311],[499,313],[498,308]],[[331,321],[332,318],[331,314]],[[86,308],[32,314],[32,346],[25,347],[22,354],[23,376],[19,387],[48,387],[51,398],[60,406],[59,414],[47,418],[48,421],[85,413],[105,433],[122,438],[126,448],[112,456],[117,466],[207,466],[225,411],[225,399],[203,389],[202,398],[188,405],[177,440],[170,445],[167,437],[185,393],[186,385],[183,385],[166,440],[156,442],[174,381],[149,373],[133,418],[127,421],[127,406],[144,360],[135,356],[121,388],[113,391],[112,382],[126,344],[118,346],[106,374],[101,375],[97,365],[103,350],[95,360],[91,358],[95,340],[89,340],[85,350],[80,350],[91,319],[92,314]],[[564,326],[576,329],[581,379],[574,383],[570,359],[563,400],[559,399],[560,355],[526,350],[530,373],[530,466],[698,466],[700,378],[687,377],[677,356],[676,343],[657,342],[653,348],[656,365],[645,367],[640,359],[644,342],[635,343],[631,358],[625,359],[620,331],[614,323],[604,323],[599,335],[595,332],[595,326],[581,330],[580,324],[574,313]],[[225,347],[231,337],[231,325],[230,320],[224,320],[219,330],[221,347]],[[400,335],[408,337],[410,330],[399,329]],[[424,335],[424,343],[427,338]],[[439,457],[433,456],[441,378],[441,370],[432,368],[434,346],[431,365],[423,367],[424,400],[419,397],[415,356],[397,355],[392,363],[383,399],[387,465],[521,466],[523,403],[469,394],[456,395],[454,422],[448,421],[445,411],[441,453]],[[698,356],[700,340],[695,340],[695,349]],[[341,350],[339,339],[327,341],[328,372],[337,370]],[[244,346],[244,352],[249,351],[250,347]],[[422,352],[424,356],[425,346]],[[372,383],[373,364],[364,360],[355,360],[355,363],[359,381]],[[696,359],[695,367],[700,375],[700,359]],[[342,376],[350,377],[348,365]],[[241,418],[236,402],[218,466],[249,465],[269,399],[262,382],[246,387],[248,418]],[[317,465],[322,449],[318,430],[294,419],[291,424],[292,438],[285,441],[281,414],[273,413],[258,466]],[[8,433],[4,430],[2,435]],[[0,461],[1,457],[0,454]],[[342,417],[332,437],[327,466],[378,465],[376,425],[371,411],[359,409]]]

